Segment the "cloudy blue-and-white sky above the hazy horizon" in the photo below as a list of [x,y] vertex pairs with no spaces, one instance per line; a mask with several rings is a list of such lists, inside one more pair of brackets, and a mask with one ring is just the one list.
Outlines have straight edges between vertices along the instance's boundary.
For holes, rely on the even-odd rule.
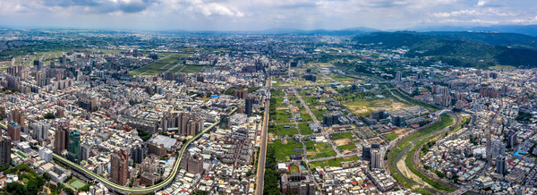
[[0,0],[0,26],[379,30],[537,24],[535,0]]

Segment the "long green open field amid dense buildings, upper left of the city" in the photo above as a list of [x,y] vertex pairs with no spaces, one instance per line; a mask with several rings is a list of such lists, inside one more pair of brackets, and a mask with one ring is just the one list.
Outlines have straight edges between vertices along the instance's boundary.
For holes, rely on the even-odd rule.
[[167,54],[165,57],[158,59],[152,64],[148,64],[132,71],[131,74],[155,75],[160,72],[166,72],[166,70],[172,68],[173,65],[181,63],[187,56],[187,54]]

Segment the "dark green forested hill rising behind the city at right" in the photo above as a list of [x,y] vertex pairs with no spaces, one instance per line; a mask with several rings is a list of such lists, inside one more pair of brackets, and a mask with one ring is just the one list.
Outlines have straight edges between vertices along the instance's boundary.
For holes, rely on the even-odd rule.
[[537,37],[492,32],[374,32],[354,37],[358,47],[408,47],[406,56],[429,56],[455,66],[537,67]]

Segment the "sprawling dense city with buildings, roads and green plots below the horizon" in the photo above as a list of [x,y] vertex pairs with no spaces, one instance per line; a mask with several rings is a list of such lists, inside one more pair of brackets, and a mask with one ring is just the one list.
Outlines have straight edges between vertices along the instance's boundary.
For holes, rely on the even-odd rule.
[[534,45],[323,33],[0,29],[0,191],[537,193]]

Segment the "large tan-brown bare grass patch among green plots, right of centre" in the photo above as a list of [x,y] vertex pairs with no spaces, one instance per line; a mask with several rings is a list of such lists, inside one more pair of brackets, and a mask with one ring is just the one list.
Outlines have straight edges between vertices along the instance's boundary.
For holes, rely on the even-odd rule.
[[397,102],[395,99],[392,98],[351,102],[344,104],[344,106],[348,108],[351,112],[353,112],[353,114],[358,116],[369,115],[373,113],[374,110],[384,109],[388,111],[393,111],[405,107],[410,107],[409,105]]

